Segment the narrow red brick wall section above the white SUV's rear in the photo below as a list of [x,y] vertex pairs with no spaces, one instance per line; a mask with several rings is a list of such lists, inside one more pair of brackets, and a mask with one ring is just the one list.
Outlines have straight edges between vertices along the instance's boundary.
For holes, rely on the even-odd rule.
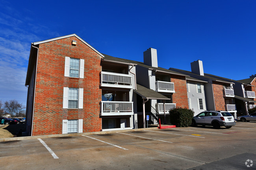
[[225,109],[225,100],[223,97],[223,84],[219,82],[212,82],[213,94],[215,101],[216,110],[226,110]]

